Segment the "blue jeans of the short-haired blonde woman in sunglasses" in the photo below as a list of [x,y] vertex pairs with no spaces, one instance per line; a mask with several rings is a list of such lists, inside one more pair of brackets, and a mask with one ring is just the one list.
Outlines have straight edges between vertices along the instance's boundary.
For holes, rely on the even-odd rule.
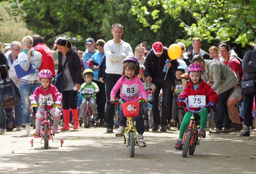
[[[28,84],[26,82],[20,81],[20,95],[23,101],[23,120],[24,125],[30,125],[30,115],[29,115],[29,107],[30,107],[30,100],[29,96],[33,94],[35,89],[40,86],[39,83]],[[37,108],[35,108],[35,112],[37,112]]]

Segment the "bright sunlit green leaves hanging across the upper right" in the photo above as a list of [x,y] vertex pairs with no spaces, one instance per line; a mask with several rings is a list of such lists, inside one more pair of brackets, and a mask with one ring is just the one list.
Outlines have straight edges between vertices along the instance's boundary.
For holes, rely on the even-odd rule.
[[209,43],[228,40],[245,47],[256,36],[255,7],[256,1],[252,0],[133,0],[132,11],[144,27],[154,32],[169,23],[167,16],[172,16],[188,36],[176,37],[177,41],[187,45],[199,36]]

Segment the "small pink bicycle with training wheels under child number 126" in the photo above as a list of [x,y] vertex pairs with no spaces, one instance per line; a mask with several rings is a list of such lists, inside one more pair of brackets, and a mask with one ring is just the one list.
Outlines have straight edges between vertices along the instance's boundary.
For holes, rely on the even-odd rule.
[[[41,141],[44,140],[44,149],[48,149],[48,146],[49,146],[49,140],[52,139],[53,141],[53,137],[54,137],[54,132],[51,131],[51,123],[50,123],[50,120],[49,120],[49,117],[50,117],[50,114],[48,114],[48,110],[47,110],[47,105],[50,105],[50,103],[47,103],[47,102],[37,102],[36,105],[32,105],[31,107],[36,107],[36,106],[40,106],[40,107],[43,107],[44,105],[44,118],[43,118],[43,121],[41,123],[41,133],[40,135],[36,135],[34,136],[34,138],[41,138]],[[54,107],[60,107],[59,105],[56,105],[55,102],[51,103],[51,105],[53,105]],[[37,142],[37,143],[40,143],[41,141]],[[62,144],[64,143],[64,140],[62,138],[60,138],[60,141],[53,141],[55,143],[58,143],[60,142],[61,146]],[[30,140],[30,144],[32,145],[33,147],[33,138]]]

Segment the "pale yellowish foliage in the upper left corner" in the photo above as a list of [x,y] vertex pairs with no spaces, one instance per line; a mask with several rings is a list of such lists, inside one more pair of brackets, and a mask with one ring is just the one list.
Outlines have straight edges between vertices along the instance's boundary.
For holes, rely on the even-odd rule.
[[0,3],[0,38],[3,43],[11,43],[14,40],[22,41],[26,35],[33,32],[26,27],[24,16],[26,13],[17,3]]

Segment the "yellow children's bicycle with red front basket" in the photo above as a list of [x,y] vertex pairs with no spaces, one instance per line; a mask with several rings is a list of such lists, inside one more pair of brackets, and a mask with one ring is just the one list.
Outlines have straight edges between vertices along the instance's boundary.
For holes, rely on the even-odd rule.
[[[133,126],[133,117],[137,117],[139,115],[139,103],[144,102],[144,100],[139,100],[138,102],[125,102],[123,103],[122,99],[110,101],[107,100],[107,104],[110,103],[121,103],[124,117],[129,117],[129,127],[124,128],[124,134],[116,134],[116,137],[124,137],[124,145],[129,147],[130,157],[134,157],[134,147],[138,146],[138,136],[136,133],[136,128]],[[150,104],[153,103],[152,100],[149,101]],[[146,143],[145,146],[146,147]]]

